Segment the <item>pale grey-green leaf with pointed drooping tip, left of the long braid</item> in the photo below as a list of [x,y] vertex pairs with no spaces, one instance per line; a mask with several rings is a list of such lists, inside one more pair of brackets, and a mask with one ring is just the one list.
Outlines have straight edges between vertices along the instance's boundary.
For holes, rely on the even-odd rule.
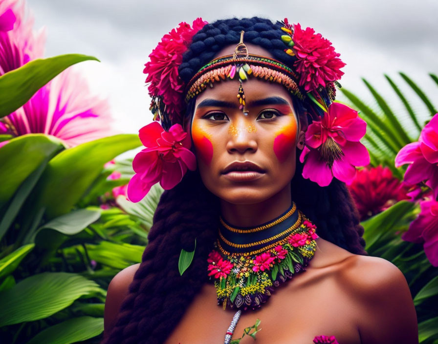
[[81,232],[89,224],[97,221],[99,217],[100,211],[88,209],[74,210],[70,213],[56,217],[38,228],[36,231],[30,232],[24,242],[33,242],[38,232],[47,228],[71,236]]

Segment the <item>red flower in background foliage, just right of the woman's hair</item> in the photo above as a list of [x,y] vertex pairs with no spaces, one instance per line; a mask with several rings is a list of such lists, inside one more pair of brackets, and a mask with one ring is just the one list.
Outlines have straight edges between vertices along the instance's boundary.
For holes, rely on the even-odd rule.
[[361,221],[383,212],[394,203],[408,199],[407,187],[403,185],[388,167],[367,167],[357,171],[348,186],[356,203]]

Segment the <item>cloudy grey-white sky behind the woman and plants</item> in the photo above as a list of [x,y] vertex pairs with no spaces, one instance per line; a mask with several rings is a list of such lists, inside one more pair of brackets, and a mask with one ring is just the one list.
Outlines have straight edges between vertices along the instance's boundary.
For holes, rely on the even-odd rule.
[[[403,110],[383,77],[407,73],[434,104],[438,87],[428,73],[438,73],[438,1],[436,0],[27,0],[35,29],[45,26],[45,56],[81,53],[97,57],[73,66],[87,79],[91,91],[107,98],[123,132],[137,133],[152,120],[144,84],[144,64],[161,37],[181,21],[206,21],[254,15],[300,22],[330,40],[347,63],[343,87],[372,105],[361,78],[368,79]],[[402,87],[407,90],[408,88]],[[339,92],[340,93],[340,92]],[[339,97],[340,99],[342,97]],[[426,110],[413,98],[418,111]],[[342,99],[341,99],[342,100]]]

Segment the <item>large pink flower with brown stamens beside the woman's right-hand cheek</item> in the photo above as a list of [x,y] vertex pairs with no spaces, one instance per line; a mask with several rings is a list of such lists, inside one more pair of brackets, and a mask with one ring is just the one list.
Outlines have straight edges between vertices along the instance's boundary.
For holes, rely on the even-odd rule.
[[330,184],[333,176],[351,183],[355,166],[370,163],[370,155],[359,140],[367,124],[357,111],[341,103],[332,103],[320,121],[313,121],[306,131],[306,146],[300,155],[303,177],[320,186]]

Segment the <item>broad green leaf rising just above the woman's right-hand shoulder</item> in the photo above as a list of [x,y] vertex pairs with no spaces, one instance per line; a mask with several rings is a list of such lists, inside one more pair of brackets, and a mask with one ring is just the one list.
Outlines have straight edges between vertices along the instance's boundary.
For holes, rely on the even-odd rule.
[[400,201],[384,212],[372,216],[368,220],[361,222],[364,227],[364,239],[366,242],[365,250],[369,253],[375,250],[372,247],[382,237],[394,237],[394,233],[400,230],[400,226],[409,224],[412,220],[412,212],[416,209],[416,204],[408,201]]

